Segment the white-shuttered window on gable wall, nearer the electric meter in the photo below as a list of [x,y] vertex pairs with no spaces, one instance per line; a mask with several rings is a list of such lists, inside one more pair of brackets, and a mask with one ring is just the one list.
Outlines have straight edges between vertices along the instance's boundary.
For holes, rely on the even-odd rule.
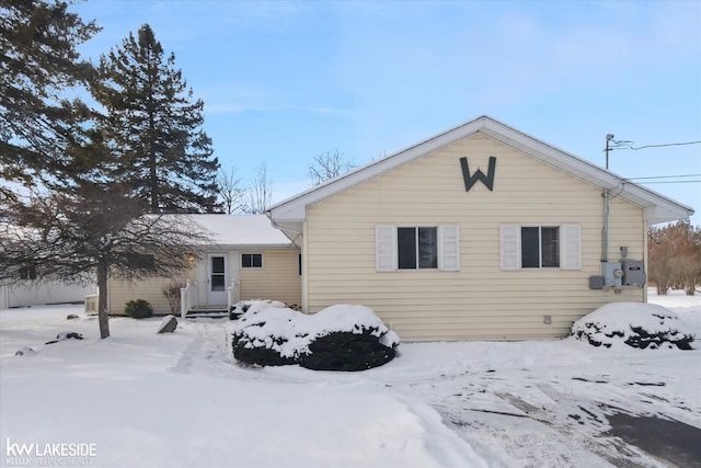
[[578,225],[499,226],[502,270],[582,270]]

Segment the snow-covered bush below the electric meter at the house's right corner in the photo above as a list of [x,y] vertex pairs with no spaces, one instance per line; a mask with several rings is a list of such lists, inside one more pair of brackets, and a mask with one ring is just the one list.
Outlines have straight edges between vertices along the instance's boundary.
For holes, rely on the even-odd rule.
[[694,335],[675,312],[655,304],[612,303],[572,326],[572,336],[594,346],[691,350]]

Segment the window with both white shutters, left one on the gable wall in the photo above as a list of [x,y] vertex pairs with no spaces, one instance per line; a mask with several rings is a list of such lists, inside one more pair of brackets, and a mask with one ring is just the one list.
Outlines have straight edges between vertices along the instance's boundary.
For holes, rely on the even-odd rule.
[[376,270],[443,270],[460,267],[458,226],[380,225],[375,230]]

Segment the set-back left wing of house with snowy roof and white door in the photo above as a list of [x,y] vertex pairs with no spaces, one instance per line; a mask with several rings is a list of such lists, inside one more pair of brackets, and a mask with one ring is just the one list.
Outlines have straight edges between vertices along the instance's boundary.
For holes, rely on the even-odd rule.
[[[191,258],[192,267],[179,277],[139,282],[108,279],[111,315],[124,315],[133,299],[148,300],[154,315],[175,311],[226,312],[239,299],[301,303],[299,248],[271,226],[264,215],[172,215],[197,225],[211,237],[204,253]],[[181,308],[171,309],[164,288],[181,290]]]

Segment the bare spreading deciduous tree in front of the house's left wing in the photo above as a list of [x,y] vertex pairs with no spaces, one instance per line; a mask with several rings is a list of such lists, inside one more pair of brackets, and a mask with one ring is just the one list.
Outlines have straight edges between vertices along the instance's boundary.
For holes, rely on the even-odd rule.
[[209,240],[186,215],[146,215],[143,201],[117,186],[85,184],[74,193],[9,199],[0,225],[0,279],[16,281],[27,266],[67,283],[100,288],[101,338],[110,336],[107,278],[168,276],[189,266]]

